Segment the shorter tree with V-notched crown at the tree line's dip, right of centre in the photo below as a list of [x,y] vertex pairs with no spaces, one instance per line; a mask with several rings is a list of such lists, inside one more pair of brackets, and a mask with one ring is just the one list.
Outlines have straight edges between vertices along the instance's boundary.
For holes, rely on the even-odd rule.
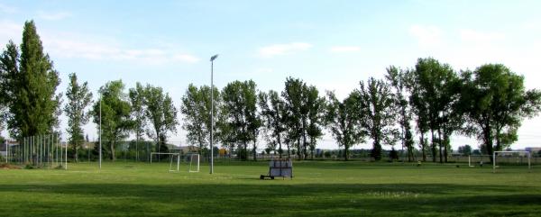
[[327,92],[325,123],[339,146],[344,147],[344,159],[348,160],[353,145],[364,142],[367,131],[361,126],[359,92],[353,91],[342,102],[335,93]]

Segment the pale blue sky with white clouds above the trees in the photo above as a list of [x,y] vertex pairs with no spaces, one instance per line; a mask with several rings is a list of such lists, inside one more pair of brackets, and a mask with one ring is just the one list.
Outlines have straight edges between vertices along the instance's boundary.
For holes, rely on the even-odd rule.
[[[122,79],[127,88],[163,87],[177,107],[188,84],[210,84],[214,54],[218,88],[252,79],[261,91],[281,91],[286,77],[298,77],[343,98],[390,65],[413,68],[418,58],[433,57],[456,71],[502,63],[524,76],[527,88],[541,89],[539,8],[541,1],[521,0],[0,0],[0,48],[19,44],[23,23],[33,20],[60,72],[59,92],[77,73],[95,96],[99,86]],[[170,141],[186,145],[178,129]],[[97,138],[96,124],[85,131]],[[541,118],[525,120],[511,147],[541,147],[539,134]],[[452,144],[479,141],[454,136]],[[318,147],[338,148],[329,132]],[[354,148],[370,147],[369,140]]]

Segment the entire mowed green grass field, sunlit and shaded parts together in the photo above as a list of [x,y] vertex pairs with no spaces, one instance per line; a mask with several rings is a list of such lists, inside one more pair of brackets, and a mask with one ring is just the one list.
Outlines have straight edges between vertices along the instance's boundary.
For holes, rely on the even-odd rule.
[[294,162],[294,178],[260,180],[266,162],[215,174],[169,163],[0,170],[0,216],[539,216],[541,168]]

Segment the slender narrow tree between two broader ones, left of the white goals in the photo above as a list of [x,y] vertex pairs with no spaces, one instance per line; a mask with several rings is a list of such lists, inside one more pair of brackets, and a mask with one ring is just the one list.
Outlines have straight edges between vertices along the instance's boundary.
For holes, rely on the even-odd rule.
[[[142,140],[142,136],[148,123],[145,115],[146,107],[144,105],[144,87],[141,85],[141,83],[137,82],[135,87],[130,88],[128,95],[130,97],[130,104],[132,105],[133,131],[135,132],[135,158],[139,160],[139,141]],[[147,152],[149,152],[148,143]]]

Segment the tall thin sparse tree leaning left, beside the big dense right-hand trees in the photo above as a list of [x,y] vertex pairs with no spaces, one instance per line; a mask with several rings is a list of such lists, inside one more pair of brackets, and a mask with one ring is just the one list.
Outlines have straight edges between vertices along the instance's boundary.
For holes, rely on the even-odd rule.
[[405,96],[406,86],[407,86],[407,72],[390,66],[387,68],[387,75],[385,78],[389,81],[390,86],[394,88],[394,102],[399,111],[398,122],[400,125],[400,134],[399,137],[402,142],[402,149],[406,148],[408,150],[408,161],[413,159],[414,141],[413,133],[411,132],[411,110],[409,108],[408,97]]

